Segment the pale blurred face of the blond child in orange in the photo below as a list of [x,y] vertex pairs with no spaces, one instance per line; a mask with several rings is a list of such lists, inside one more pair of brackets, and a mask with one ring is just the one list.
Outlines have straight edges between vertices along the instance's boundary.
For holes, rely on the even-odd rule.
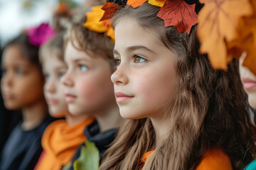
[[61,118],[68,113],[68,105],[65,101],[64,87],[60,78],[63,77],[68,68],[64,61],[53,55],[48,54],[43,60],[43,74],[46,77],[44,94],[50,115]]

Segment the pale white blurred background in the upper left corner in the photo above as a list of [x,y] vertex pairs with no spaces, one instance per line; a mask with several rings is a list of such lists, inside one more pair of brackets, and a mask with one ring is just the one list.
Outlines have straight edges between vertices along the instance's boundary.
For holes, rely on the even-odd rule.
[[68,4],[68,8],[82,8],[87,4],[86,0],[0,0],[1,47],[21,30],[43,22],[52,23],[59,3]]

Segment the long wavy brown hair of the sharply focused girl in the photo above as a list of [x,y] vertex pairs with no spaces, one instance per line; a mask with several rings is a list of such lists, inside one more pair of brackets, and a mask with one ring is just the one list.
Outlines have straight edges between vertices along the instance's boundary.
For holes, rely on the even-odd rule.
[[[178,93],[174,104],[164,111],[170,115],[169,136],[156,145],[154,127],[149,118],[127,120],[105,152],[100,170],[107,169],[196,169],[203,154],[213,147],[228,154],[233,169],[243,169],[252,161],[255,125],[238,74],[238,61],[228,70],[214,70],[206,55],[198,53],[196,26],[190,35],[164,27],[156,16],[159,7],[143,4],[126,6],[113,18],[133,18],[144,29],[154,30],[170,50],[178,54],[176,74]],[[154,90],[154,89],[152,89]],[[146,163],[139,164],[145,152],[154,149]]]

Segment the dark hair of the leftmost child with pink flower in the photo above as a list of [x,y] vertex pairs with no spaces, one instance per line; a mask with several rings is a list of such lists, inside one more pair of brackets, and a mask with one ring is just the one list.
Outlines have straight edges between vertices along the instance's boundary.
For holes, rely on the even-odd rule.
[[23,56],[26,57],[26,60],[35,64],[40,70],[41,75],[43,77],[42,66],[41,66],[41,63],[39,62],[39,57],[38,57],[39,47],[29,42],[28,35],[26,33],[21,33],[20,35],[18,35],[18,37],[14,38],[14,40],[11,40],[10,42],[8,42],[5,45],[4,49],[12,45],[17,45],[17,47],[21,50]]

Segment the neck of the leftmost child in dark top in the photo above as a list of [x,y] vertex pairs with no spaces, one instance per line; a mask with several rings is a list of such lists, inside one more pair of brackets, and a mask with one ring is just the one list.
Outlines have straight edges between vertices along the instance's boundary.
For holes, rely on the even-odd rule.
[[47,115],[46,102],[41,99],[30,106],[22,108],[23,123],[21,128],[23,130],[32,130],[42,123]]

